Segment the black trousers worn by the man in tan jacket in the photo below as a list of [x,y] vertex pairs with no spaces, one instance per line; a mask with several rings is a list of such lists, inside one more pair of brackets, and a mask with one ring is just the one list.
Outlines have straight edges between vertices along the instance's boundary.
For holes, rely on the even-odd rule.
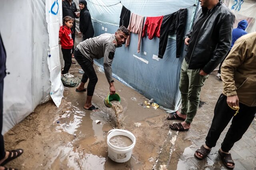
[[236,111],[228,106],[227,97],[224,94],[220,95],[214,109],[212,125],[206,137],[205,144],[208,147],[212,148],[216,146],[220,134],[232,117],[232,123],[221,144],[221,149],[224,152],[228,152],[233,147],[234,143],[242,138],[255,117],[256,107],[249,107],[241,103],[239,103],[239,107],[239,113],[234,116]]

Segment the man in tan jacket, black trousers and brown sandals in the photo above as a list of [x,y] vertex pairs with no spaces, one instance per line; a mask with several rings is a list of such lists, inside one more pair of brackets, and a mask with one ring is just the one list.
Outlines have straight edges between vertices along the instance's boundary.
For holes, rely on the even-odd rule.
[[223,92],[215,109],[205,145],[195,152],[202,159],[210,153],[220,134],[232,119],[219,154],[230,169],[235,164],[228,153],[239,141],[256,115],[256,32],[240,37],[221,67]]

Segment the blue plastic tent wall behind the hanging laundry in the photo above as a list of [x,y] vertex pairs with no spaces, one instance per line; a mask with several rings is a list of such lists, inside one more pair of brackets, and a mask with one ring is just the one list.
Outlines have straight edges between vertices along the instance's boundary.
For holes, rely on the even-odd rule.
[[[194,19],[196,6],[188,8],[186,31],[189,31]],[[146,20],[146,17],[144,21]],[[107,28],[107,31],[102,30]],[[118,25],[108,24],[94,20],[94,36],[103,33],[115,33]],[[179,80],[180,68],[184,59],[184,50],[180,58],[176,58],[176,37],[168,38],[168,43],[163,59],[156,61],[153,55],[158,55],[159,38],[142,38],[140,53],[137,53],[138,35],[132,33],[129,47],[117,48],[112,63],[112,70],[116,76],[122,78],[135,90],[146,96],[154,98],[154,101],[163,107],[176,110],[180,104]],[[146,51],[146,55],[144,55]],[[148,61],[148,64],[136,59],[133,55]],[[103,59],[96,60],[103,64]]]

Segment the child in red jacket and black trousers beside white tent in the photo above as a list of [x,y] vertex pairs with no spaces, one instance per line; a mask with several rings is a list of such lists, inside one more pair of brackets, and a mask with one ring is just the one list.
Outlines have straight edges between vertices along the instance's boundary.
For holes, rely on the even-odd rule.
[[70,16],[66,16],[63,18],[63,25],[60,27],[59,38],[61,51],[64,59],[64,68],[61,72],[62,76],[66,78],[74,77],[72,74],[68,72],[71,64],[72,64],[72,47],[74,45],[73,39],[71,36],[71,29],[73,26],[74,18]]

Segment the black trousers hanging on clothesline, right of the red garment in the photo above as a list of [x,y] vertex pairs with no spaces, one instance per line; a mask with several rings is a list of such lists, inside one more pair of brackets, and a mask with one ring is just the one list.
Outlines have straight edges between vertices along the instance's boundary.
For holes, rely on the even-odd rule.
[[164,16],[160,28],[160,41],[158,58],[162,59],[166,50],[168,35],[176,32],[176,58],[180,57],[182,45],[184,44],[183,37],[186,29],[187,9],[180,9],[173,14]]

